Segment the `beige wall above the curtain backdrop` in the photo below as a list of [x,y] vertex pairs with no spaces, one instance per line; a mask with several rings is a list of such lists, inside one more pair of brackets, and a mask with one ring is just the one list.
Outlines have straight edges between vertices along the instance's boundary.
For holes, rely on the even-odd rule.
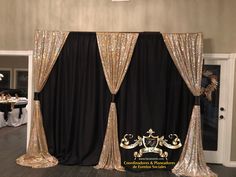
[[[0,50],[30,50],[34,31],[47,29],[200,31],[205,53],[233,53],[235,7],[235,0],[1,0]],[[232,149],[236,149],[236,143]],[[236,161],[236,154],[232,154],[232,160]]]

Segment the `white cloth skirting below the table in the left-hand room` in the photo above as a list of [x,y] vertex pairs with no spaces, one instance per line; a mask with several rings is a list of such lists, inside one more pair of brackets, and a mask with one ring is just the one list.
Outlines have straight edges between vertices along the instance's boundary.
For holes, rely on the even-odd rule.
[[19,111],[19,108],[15,108],[9,112],[7,121],[4,119],[4,113],[0,112],[0,128],[5,126],[18,127],[27,123],[27,109],[22,108],[21,118],[19,118]]

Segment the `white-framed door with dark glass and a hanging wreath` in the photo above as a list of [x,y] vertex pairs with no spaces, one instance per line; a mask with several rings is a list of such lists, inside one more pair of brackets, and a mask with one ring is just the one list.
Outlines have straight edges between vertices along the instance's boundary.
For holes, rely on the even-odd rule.
[[204,55],[201,117],[203,149],[208,163],[230,162],[233,111],[233,55]]

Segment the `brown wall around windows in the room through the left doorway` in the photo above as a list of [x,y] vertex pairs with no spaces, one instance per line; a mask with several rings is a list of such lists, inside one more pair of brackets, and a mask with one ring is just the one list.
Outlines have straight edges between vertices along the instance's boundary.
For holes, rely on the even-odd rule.
[[0,56],[0,68],[11,68],[12,88],[14,87],[14,69],[28,69],[28,58],[26,56]]

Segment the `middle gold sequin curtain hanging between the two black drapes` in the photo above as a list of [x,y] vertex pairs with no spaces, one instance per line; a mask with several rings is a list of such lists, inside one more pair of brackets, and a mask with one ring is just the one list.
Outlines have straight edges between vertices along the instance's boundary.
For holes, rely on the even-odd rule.
[[115,94],[128,70],[138,33],[97,33],[97,41],[105,78],[112,94],[108,123],[97,169],[124,171],[118,140]]

